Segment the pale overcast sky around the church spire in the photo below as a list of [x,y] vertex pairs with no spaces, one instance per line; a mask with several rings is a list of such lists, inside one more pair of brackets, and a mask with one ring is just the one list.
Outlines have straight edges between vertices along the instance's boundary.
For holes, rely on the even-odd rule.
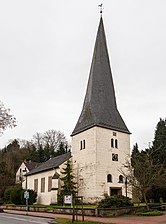
[[[103,0],[118,109],[131,148],[166,112],[166,0]],[[17,127],[0,137],[64,132],[80,115],[99,24],[98,0],[0,0],[0,100]]]

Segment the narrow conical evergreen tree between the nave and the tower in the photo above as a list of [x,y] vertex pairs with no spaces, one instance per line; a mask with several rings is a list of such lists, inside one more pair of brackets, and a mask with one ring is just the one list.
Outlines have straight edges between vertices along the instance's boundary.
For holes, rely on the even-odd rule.
[[63,204],[63,198],[65,195],[72,195],[73,197],[76,196],[76,183],[74,182],[74,175],[73,175],[73,168],[72,163],[68,160],[63,168],[61,174],[63,177],[61,181],[63,185],[61,186],[61,190],[58,195],[58,203]]

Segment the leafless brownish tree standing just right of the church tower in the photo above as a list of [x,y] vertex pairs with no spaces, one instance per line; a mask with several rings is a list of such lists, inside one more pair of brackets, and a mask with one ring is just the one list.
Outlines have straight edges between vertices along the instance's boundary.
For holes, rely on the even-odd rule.
[[132,187],[134,191],[139,193],[144,199],[147,209],[149,209],[146,194],[148,190],[154,185],[164,186],[166,173],[161,164],[153,164],[148,152],[142,152],[138,157],[134,158],[134,167],[130,160],[124,164],[127,172],[123,172],[123,176],[127,179],[128,186]]

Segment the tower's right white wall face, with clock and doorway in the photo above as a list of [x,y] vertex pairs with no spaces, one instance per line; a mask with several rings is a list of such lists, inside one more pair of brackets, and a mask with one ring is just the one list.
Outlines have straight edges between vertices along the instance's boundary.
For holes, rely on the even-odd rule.
[[[122,187],[125,195],[125,180],[119,183],[119,175],[122,175],[126,160],[130,158],[130,135],[122,132],[112,131],[105,128],[96,128],[97,155],[96,155],[96,184],[99,198],[103,193],[110,193],[110,187]],[[116,133],[116,136],[113,136]],[[111,147],[111,138],[118,140],[118,148]],[[118,161],[112,161],[112,154],[118,154]],[[112,183],[107,183],[107,175],[112,175]]]

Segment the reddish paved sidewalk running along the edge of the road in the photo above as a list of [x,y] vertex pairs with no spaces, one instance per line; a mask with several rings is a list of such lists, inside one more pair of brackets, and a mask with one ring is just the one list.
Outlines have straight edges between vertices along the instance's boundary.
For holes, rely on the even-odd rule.
[[[13,214],[22,214],[25,215],[27,212],[25,211],[16,211],[16,210],[4,210],[6,213]],[[53,213],[40,213],[40,212],[28,212],[28,215],[38,216],[38,217],[46,217],[46,218],[69,218],[72,219],[71,215],[61,215],[61,214],[53,214]],[[81,217],[79,217],[81,219]],[[87,221],[96,221],[103,223],[113,223],[113,224],[166,224],[166,215],[162,216],[151,216],[151,217],[140,217],[140,216],[123,216],[116,218],[101,218],[101,217],[92,217],[85,216],[85,220]]]

